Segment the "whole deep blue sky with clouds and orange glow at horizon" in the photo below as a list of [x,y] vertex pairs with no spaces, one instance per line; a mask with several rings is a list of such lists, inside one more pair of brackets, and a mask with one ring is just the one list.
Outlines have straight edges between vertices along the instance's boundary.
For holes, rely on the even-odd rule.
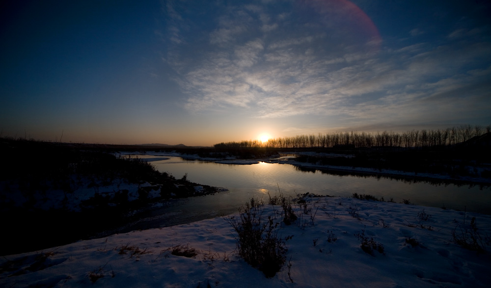
[[213,145],[491,124],[489,0],[0,5],[1,137]]

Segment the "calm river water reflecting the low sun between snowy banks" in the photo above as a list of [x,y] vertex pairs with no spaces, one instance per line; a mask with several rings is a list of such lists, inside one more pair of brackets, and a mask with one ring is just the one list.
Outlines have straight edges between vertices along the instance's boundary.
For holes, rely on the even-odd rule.
[[[120,231],[167,227],[237,212],[251,197],[268,202],[279,195],[297,194],[352,197],[353,193],[383,197],[385,201],[409,200],[422,206],[491,214],[491,187],[457,185],[408,178],[377,177],[369,174],[321,172],[290,164],[259,162],[252,165],[218,164],[172,156],[138,155],[147,158],[160,172],[176,178],[187,175],[191,182],[228,189],[215,195],[153,203]],[[150,159],[152,158],[152,159]],[[164,160],[158,160],[164,159]]]

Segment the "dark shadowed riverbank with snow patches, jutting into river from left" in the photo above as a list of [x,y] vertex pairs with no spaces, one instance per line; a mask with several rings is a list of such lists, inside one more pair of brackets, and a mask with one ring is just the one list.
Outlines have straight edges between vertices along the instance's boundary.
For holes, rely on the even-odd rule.
[[9,235],[0,255],[88,239],[133,222],[155,202],[223,191],[97,149],[6,141],[0,153],[0,217]]

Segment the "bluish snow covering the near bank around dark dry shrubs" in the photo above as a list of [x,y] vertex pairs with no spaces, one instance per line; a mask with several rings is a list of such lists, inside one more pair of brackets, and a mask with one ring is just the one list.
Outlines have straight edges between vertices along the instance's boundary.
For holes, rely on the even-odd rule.
[[[451,234],[476,217],[489,250],[490,215],[354,198],[305,200],[310,212],[294,205],[299,219],[290,226],[281,222],[281,206],[261,206],[263,218],[280,223],[279,236],[293,235],[272,278],[237,255],[235,231],[218,217],[5,256],[0,287],[488,287],[491,281],[490,253],[467,250]],[[383,245],[383,254],[361,249],[355,234],[363,231]],[[178,245],[197,255],[172,255]]]

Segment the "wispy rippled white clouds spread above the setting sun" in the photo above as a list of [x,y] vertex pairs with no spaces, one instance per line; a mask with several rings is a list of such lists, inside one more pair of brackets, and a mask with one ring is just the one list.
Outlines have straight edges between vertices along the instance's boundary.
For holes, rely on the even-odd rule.
[[[443,35],[438,46],[419,42],[374,51],[369,40],[353,45],[352,35],[332,30],[342,24],[340,15],[329,20],[322,13],[305,17],[305,11],[291,11],[291,6],[275,8],[230,4],[210,20],[216,25],[204,30],[200,42],[193,43],[202,45],[198,55],[186,52],[190,40],[181,39],[179,30],[171,27],[172,45],[183,49],[176,67],[179,83],[189,95],[187,110],[233,109],[260,118],[350,115],[372,122],[381,117],[407,121],[429,113],[431,106],[422,101],[457,93],[471,97],[464,91],[483,94],[488,88],[467,71],[483,59],[491,62],[490,42],[452,41],[465,37],[468,30]],[[409,34],[426,33],[412,29]],[[461,102],[447,102],[445,107],[457,109]]]

